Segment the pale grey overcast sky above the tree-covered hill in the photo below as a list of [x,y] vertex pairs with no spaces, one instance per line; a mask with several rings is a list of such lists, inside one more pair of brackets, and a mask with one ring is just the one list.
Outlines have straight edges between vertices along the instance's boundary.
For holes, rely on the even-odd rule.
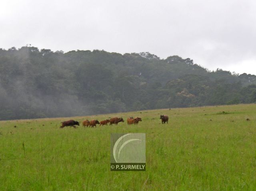
[[0,0],[0,48],[179,55],[256,75],[255,0]]

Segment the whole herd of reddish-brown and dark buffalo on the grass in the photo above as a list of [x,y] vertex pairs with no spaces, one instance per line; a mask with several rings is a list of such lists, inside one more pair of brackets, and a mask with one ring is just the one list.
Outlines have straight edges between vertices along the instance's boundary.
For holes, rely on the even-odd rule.
[[[168,116],[167,115],[160,115],[160,119],[162,120],[162,124],[164,123],[168,123]],[[131,125],[131,124],[138,124],[141,120],[140,117],[136,117],[136,118],[133,118],[133,117],[129,117],[127,118],[127,124],[128,125]],[[100,124],[100,126],[102,125],[107,125],[108,123],[110,125],[112,124],[118,124],[119,122],[124,122],[123,118],[118,118],[118,117],[113,117],[113,118],[110,118],[110,119],[106,119],[106,120],[103,120],[101,122],[99,122],[98,120],[84,120],[83,121],[83,126],[84,127],[96,127],[96,124]],[[80,125],[78,121],[75,121],[75,120],[68,120],[68,121],[64,121],[64,122],[61,122],[62,125],[60,126],[60,128],[64,128],[66,126],[73,126],[74,128],[76,128],[76,125]]]

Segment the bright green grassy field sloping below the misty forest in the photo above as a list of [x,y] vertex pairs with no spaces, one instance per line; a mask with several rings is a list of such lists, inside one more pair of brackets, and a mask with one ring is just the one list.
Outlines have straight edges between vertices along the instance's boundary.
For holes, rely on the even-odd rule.
[[[113,116],[142,122],[59,128]],[[110,171],[110,133],[127,132],[146,133],[146,171]],[[256,104],[1,121],[0,190],[256,190]]]

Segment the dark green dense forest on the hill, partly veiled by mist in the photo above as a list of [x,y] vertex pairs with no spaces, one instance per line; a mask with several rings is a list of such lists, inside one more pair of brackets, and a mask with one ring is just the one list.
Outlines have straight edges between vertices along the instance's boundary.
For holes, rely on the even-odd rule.
[[256,76],[146,53],[0,49],[0,120],[256,102]]

